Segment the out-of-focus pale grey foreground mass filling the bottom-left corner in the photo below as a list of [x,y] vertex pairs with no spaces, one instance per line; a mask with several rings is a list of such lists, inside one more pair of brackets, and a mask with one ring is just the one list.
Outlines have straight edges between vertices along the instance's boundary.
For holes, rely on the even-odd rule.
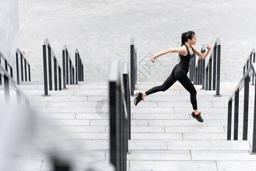
[[18,159],[24,145],[43,154],[41,160],[50,162],[47,170],[115,170],[109,161],[99,160],[93,150],[83,149],[78,140],[29,109],[1,108],[0,117],[0,170],[35,170],[34,165],[26,165],[31,160]]

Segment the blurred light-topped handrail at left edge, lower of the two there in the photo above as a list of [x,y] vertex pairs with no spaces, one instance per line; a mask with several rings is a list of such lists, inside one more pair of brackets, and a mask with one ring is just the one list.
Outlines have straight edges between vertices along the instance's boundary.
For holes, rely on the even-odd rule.
[[[25,101],[27,107],[29,107],[29,97],[25,95],[21,88],[19,88],[18,84],[15,83],[14,79],[11,75],[3,68],[0,64],[0,75],[3,76],[3,84],[5,89],[5,104],[10,104],[10,86],[14,89],[17,95],[17,104],[21,104],[21,100]],[[9,86],[10,85],[10,86]]]

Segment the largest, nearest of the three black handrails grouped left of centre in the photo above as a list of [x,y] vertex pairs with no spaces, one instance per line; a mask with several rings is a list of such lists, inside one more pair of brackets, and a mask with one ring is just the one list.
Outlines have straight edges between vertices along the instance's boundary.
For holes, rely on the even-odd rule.
[[[46,54],[46,48],[48,49],[48,55]],[[47,58],[48,56],[48,58]],[[47,60],[48,59],[48,60]],[[60,68],[60,64],[56,59],[54,51],[51,48],[51,44],[48,39],[44,39],[43,42],[43,74],[44,74],[44,95],[48,96],[48,85],[47,85],[47,66],[48,66],[48,76],[49,76],[49,90],[52,90],[52,63],[51,60],[54,60],[54,88],[58,90],[58,82],[59,82],[59,90],[62,90],[62,75]],[[48,62],[48,63],[47,63]],[[58,68],[58,76],[57,76],[57,68]]]

